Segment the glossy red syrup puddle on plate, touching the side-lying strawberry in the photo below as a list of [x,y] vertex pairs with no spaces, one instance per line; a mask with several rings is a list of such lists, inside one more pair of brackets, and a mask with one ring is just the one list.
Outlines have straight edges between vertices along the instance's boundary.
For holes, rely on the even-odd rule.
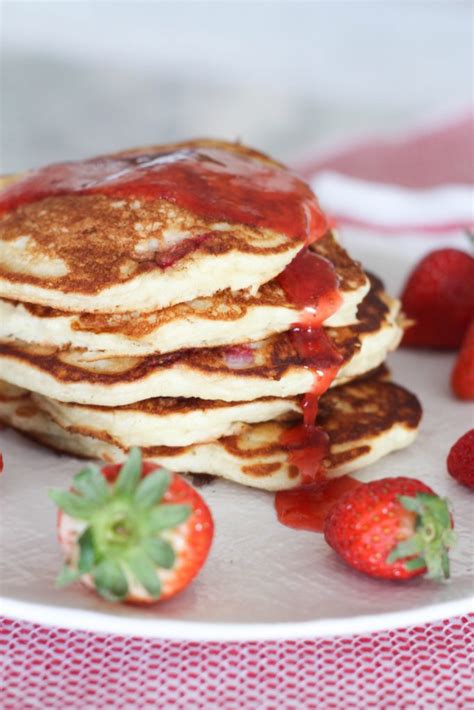
[[326,516],[337,501],[349,491],[364,485],[351,476],[333,478],[311,486],[279,491],[275,509],[280,523],[297,530],[322,532]]

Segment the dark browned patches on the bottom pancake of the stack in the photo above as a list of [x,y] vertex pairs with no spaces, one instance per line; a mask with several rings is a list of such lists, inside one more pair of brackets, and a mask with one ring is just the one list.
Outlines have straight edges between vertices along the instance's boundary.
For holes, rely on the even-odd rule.
[[[372,448],[377,447],[377,442],[383,441],[384,435],[395,427],[405,430],[408,442],[412,440],[422,416],[420,402],[400,385],[380,379],[385,376],[386,372],[374,374],[365,380],[329,391],[321,398],[317,423],[329,435],[330,451],[325,461],[329,472],[370,454]],[[7,404],[14,402],[17,415],[25,418],[32,418],[41,411],[28,392],[4,382],[0,382],[2,400]],[[7,415],[6,423],[8,421]],[[281,436],[290,426],[293,423],[283,421],[246,425],[240,434],[220,439],[219,445],[241,462],[242,473],[258,479],[270,478],[284,464],[285,446],[281,443]],[[96,434],[86,428],[81,433],[85,436]],[[63,443],[56,435],[42,434],[34,428],[27,431],[27,435],[52,448],[68,450],[67,442]],[[172,466],[170,461],[173,457],[186,455],[194,448],[194,445],[148,447],[144,449],[144,456],[166,458],[167,465]],[[74,450],[77,454],[78,451]],[[387,450],[393,450],[393,446],[388,445]],[[104,454],[104,458],[109,460],[109,455]],[[288,476],[291,478],[293,474],[296,477],[297,471],[292,473],[290,466]]]

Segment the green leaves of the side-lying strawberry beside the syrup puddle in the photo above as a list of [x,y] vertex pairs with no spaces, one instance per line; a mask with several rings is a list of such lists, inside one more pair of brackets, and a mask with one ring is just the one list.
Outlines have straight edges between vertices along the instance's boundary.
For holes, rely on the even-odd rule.
[[401,495],[398,499],[405,510],[416,514],[415,533],[394,547],[387,562],[411,557],[405,563],[407,570],[426,567],[428,579],[448,579],[448,551],[455,544],[456,535],[447,501],[429,493]]

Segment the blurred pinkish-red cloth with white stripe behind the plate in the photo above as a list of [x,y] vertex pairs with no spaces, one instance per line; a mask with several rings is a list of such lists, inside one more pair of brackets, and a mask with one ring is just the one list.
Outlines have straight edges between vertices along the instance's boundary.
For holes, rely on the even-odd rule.
[[299,166],[340,227],[379,235],[474,229],[474,116],[408,138],[356,144]]

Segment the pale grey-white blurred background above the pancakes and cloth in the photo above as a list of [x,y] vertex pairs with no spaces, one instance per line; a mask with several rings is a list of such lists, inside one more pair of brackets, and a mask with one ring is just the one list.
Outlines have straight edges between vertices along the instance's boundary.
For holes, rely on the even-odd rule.
[[471,2],[1,3],[1,169],[192,136],[298,164],[473,100]]

